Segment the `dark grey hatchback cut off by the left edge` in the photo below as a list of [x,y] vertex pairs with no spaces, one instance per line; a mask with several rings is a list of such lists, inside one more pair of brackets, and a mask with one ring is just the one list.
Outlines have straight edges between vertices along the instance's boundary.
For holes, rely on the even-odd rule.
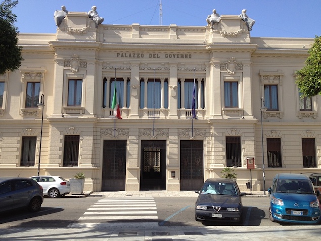
[[0,177],[0,212],[27,207],[36,212],[43,202],[42,187],[30,178]]

